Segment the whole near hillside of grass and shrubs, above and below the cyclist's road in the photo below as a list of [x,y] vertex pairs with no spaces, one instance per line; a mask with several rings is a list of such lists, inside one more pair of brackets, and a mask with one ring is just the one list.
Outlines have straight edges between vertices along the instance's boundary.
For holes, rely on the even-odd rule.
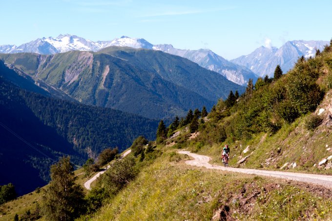
[[327,45],[287,74],[249,82],[241,96],[230,92],[207,116],[189,110],[168,128],[161,121],[156,142],[138,137],[131,156],[97,180],[78,220],[331,220],[330,189],[190,167],[176,153],[210,155],[217,164],[228,143],[230,166],[331,174],[331,158],[318,164],[332,155],[331,89]]

